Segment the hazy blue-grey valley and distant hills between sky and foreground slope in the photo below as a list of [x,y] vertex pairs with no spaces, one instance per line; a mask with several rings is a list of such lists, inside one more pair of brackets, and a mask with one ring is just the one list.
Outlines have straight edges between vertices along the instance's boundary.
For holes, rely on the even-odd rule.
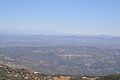
[[120,38],[0,35],[0,63],[45,74],[120,72]]

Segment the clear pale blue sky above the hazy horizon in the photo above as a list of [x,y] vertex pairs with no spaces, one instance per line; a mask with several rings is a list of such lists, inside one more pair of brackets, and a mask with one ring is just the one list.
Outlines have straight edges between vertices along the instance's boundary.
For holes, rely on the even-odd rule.
[[0,33],[120,36],[120,0],[0,0]]

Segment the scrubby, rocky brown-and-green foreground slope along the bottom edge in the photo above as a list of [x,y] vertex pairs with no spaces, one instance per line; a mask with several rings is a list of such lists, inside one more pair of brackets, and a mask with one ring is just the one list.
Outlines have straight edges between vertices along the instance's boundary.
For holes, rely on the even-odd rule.
[[13,69],[0,64],[0,80],[120,80],[120,74],[107,76],[44,75],[26,69]]

